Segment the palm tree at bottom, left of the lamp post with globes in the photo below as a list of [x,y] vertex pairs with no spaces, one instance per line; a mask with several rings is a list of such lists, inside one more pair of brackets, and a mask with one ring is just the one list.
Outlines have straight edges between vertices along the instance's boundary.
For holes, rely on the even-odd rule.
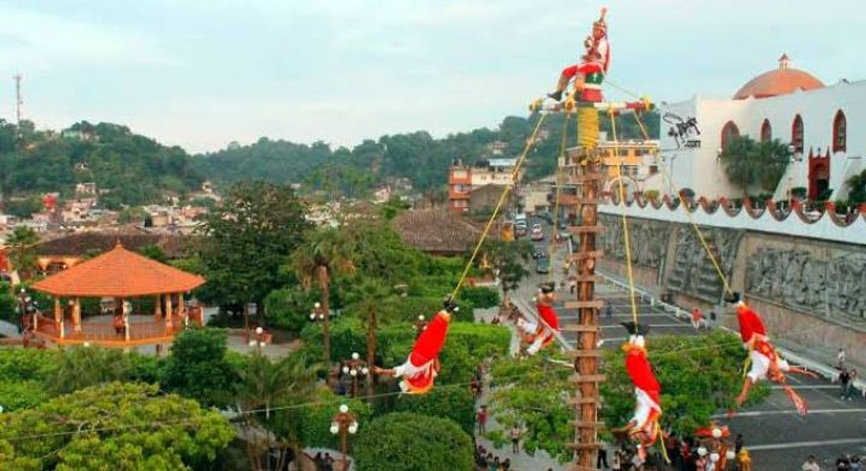
[[[273,445],[278,448],[275,469],[284,468],[289,455],[301,456],[297,410],[281,408],[281,405],[313,400],[318,386],[317,370],[318,365],[307,365],[307,357],[302,354],[289,355],[274,363],[258,352],[250,357],[247,368],[238,371],[241,388],[236,401],[241,411],[247,455],[253,469],[270,469]],[[285,413],[275,414],[275,408]],[[292,453],[288,454],[288,450]],[[267,460],[264,466],[262,452]]]

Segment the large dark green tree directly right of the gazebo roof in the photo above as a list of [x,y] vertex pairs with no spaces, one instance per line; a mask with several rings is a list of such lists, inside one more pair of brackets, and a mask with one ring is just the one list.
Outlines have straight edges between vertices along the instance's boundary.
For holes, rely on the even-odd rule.
[[232,186],[203,220],[209,237],[201,260],[211,300],[242,306],[245,315],[249,302],[255,302],[262,323],[265,297],[291,281],[291,274],[280,267],[310,227],[305,211],[288,186],[262,181]]

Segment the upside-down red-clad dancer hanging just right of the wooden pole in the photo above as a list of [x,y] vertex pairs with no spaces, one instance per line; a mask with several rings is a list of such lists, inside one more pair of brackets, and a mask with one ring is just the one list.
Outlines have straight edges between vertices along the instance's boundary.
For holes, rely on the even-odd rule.
[[637,455],[646,459],[646,448],[652,446],[659,438],[661,427],[658,420],[662,416],[662,386],[658,384],[656,374],[652,371],[647,358],[646,344],[643,336],[650,332],[649,326],[637,325],[634,322],[623,322],[629,331],[628,343],[623,345],[625,352],[625,370],[628,371],[631,383],[635,386],[635,415],[622,428],[612,430],[615,433],[627,433],[637,442]]

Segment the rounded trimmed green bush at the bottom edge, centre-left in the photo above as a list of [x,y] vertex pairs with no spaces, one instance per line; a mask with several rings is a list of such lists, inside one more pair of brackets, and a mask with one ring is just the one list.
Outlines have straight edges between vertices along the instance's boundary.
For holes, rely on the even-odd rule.
[[456,423],[396,412],[361,424],[353,455],[359,471],[473,469],[469,435]]

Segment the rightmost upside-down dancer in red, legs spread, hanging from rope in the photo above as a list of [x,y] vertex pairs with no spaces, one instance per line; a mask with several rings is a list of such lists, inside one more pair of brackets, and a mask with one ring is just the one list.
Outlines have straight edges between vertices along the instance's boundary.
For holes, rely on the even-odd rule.
[[752,363],[751,368],[746,373],[746,379],[743,381],[740,395],[737,396],[737,406],[739,407],[746,402],[749,390],[753,384],[766,378],[785,388],[785,392],[791,398],[794,407],[797,408],[800,414],[805,415],[809,411],[809,406],[802,397],[792,390],[791,386],[785,384],[785,373],[798,373],[808,377],[816,376],[810,371],[792,367],[788,365],[788,362],[784,358],[779,358],[779,354],[770,343],[769,337],[767,337],[764,322],[760,319],[758,313],[755,313],[752,308],[746,306],[746,303],[740,299],[739,293],[726,296],[725,300],[734,304],[737,310],[737,321],[740,323],[740,338],[743,340],[743,346],[749,351],[749,360]]

